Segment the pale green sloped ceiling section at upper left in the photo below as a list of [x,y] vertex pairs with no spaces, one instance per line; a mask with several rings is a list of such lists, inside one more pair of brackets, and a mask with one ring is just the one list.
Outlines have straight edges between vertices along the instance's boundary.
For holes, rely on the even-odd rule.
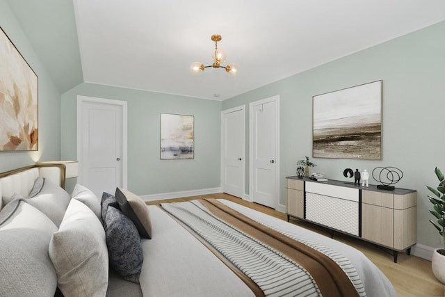
[[15,17],[64,93],[83,82],[74,6],[71,0],[8,0]]

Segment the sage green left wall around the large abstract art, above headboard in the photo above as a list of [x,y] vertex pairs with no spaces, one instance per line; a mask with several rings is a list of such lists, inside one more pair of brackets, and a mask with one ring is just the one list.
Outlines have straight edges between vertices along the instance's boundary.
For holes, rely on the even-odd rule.
[[39,117],[39,150],[0,152],[0,172],[28,166],[35,161],[60,160],[60,93],[5,0],[0,0],[0,26],[38,76]]

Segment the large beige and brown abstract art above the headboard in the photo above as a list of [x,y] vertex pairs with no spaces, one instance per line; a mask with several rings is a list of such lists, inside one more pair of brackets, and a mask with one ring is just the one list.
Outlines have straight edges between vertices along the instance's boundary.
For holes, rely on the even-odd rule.
[[0,28],[0,151],[38,150],[38,77]]

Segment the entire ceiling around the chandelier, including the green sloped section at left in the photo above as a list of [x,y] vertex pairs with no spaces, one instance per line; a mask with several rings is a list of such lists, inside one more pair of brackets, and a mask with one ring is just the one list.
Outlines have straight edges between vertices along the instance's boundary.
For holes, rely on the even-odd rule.
[[[443,0],[8,0],[62,92],[81,81],[223,100],[445,20]],[[237,77],[211,65],[214,43]]]

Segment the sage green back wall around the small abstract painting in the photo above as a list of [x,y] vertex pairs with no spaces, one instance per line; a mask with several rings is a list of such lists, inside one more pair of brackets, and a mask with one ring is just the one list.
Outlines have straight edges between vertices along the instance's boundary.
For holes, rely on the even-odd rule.
[[[221,102],[92,83],[62,95],[62,156],[76,157],[76,96],[127,101],[128,188],[138,195],[220,187]],[[195,117],[195,159],[160,159],[160,113]]]

